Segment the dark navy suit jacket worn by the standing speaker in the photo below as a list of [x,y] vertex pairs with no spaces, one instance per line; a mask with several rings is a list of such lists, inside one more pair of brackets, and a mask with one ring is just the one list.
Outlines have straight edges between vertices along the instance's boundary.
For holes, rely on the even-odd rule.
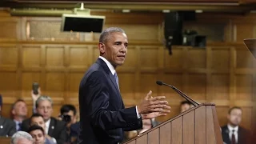
[[79,144],[121,142],[124,130],[142,128],[135,106],[125,109],[114,76],[100,58],[82,78],[79,108]]

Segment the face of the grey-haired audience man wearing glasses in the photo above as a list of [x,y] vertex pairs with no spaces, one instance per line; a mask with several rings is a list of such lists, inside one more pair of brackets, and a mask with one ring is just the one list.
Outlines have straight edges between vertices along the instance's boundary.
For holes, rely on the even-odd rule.
[[48,100],[42,100],[38,102],[37,108],[38,114],[42,114],[43,119],[47,121],[50,119],[51,114],[53,113],[53,107],[51,106],[51,102]]

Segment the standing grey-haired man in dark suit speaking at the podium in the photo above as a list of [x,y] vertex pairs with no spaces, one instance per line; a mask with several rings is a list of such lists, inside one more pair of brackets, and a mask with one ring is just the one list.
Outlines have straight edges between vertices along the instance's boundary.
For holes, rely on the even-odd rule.
[[142,128],[142,119],[170,113],[164,96],[149,94],[138,106],[126,108],[119,91],[116,67],[127,54],[128,40],[124,30],[108,28],[99,38],[100,57],[87,70],[79,87],[79,144],[117,144],[124,131]]

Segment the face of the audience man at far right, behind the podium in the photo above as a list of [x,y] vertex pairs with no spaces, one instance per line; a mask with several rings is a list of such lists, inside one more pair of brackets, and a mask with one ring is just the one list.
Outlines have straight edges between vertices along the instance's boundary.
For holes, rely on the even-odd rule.
[[234,109],[227,115],[227,118],[231,125],[238,126],[242,121],[242,110]]

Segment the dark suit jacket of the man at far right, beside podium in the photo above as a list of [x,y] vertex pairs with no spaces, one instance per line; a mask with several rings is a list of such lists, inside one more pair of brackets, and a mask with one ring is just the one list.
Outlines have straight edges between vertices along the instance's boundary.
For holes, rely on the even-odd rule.
[[[238,144],[250,144],[250,136],[251,134],[249,130],[244,129],[241,126],[238,127]],[[222,139],[226,144],[231,143],[227,126],[222,126]]]

